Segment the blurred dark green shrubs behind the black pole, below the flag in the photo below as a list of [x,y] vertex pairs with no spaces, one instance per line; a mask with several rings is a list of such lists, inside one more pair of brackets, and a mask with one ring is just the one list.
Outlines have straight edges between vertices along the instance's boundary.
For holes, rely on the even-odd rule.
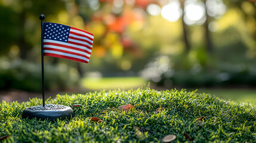
[[[0,62],[0,89],[42,91],[41,65],[22,60]],[[70,69],[45,64],[45,89],[64,89],[78,85],[79,75]]]

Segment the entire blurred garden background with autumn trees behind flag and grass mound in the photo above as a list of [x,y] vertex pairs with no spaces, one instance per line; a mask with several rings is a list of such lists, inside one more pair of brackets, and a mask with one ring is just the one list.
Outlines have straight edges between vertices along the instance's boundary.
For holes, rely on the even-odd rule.
[[2,100],[41,96],[41,14],[94,34],[88,64],[45,57],[47,96],[150,86],[256,101],[255,0],[0,0]]

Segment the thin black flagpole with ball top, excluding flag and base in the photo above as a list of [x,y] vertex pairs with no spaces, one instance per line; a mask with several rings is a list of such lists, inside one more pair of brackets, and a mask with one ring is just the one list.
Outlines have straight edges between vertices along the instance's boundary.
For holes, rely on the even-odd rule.
[[45,15],[41,14],[39,19],[41,20],[41,61],[42,61],[42,102],[45,106],[45,88],[44,88],[44,19]]

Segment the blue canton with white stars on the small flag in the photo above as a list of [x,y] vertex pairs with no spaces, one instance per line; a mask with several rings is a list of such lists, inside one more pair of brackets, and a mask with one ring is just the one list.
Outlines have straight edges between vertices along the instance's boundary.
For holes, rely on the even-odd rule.
[[44,23],[44,39],[67,42],[70,26],[57,23]]

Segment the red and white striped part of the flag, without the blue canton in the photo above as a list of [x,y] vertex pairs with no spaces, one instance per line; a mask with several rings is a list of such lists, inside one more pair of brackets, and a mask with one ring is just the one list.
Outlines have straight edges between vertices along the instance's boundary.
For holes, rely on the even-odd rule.
[[67,42],[44,39],[44,55],[88,63],[91,56],[94,35],[70,27]]

